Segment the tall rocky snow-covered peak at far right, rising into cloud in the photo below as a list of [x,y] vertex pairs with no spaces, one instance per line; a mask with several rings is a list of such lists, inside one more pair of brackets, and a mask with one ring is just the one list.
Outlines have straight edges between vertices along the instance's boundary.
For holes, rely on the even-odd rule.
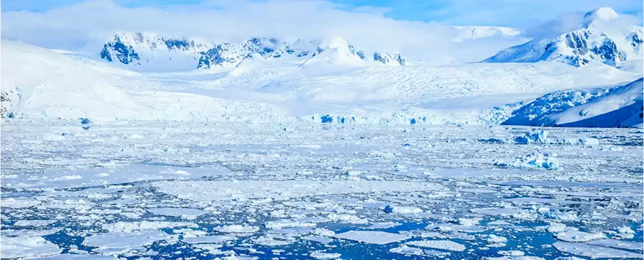
[[579,30],[504,49],[483,62],[548,60],[580,67],[591,63],[619,66],[644,58],[644,27],[623,25],[619,17],[612,8],[598,8],[585,13]]

